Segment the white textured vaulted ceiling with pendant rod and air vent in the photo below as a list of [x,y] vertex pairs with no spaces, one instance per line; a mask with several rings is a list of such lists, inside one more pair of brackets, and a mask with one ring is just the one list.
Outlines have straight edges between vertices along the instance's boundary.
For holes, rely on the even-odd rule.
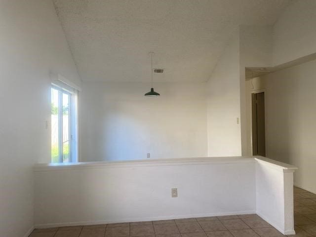
[[83,81],[206,81],[238,25],[290,0],[54,0]]

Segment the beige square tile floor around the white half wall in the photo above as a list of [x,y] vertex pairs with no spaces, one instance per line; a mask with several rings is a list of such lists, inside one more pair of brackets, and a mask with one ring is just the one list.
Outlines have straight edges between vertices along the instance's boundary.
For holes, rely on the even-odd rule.
[[[316,237],[316,195],[294,187],[295,236]],[[30,237],[282,237],[256,214],[36,229]]]

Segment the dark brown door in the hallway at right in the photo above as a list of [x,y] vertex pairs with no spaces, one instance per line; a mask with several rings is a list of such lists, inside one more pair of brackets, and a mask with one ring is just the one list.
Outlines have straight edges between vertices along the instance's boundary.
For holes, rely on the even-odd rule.
[[252,154],[266,156],[265,92],[252,94]]

